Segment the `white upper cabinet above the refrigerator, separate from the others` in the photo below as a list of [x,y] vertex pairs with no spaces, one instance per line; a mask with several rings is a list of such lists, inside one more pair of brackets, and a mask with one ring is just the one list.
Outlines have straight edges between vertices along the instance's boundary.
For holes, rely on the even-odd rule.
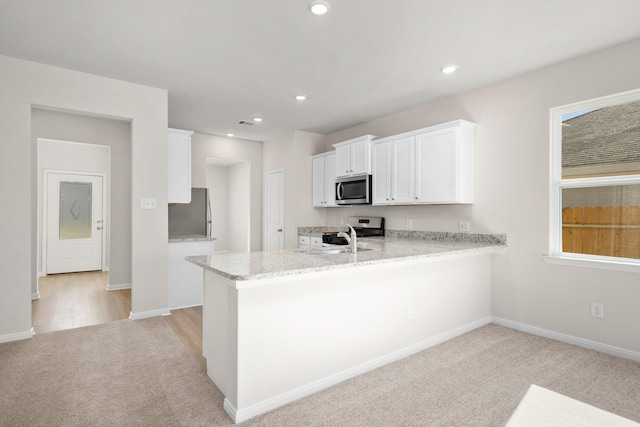
[[191,203],[191,135],[191,131],[169,129],[169,203]]

